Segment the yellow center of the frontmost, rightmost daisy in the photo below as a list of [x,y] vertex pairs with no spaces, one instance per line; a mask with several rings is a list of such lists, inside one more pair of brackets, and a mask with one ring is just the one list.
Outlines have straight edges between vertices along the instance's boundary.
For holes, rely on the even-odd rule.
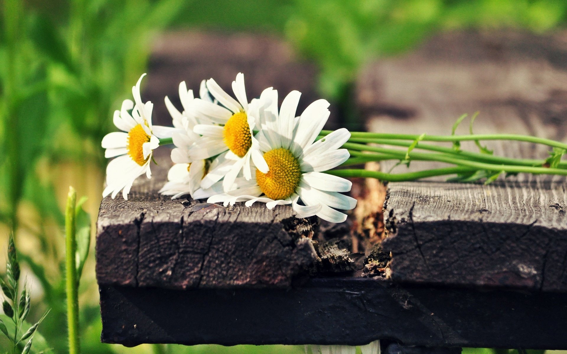
[[285,148],[264,153],[264,159],[270,170],[268,173],[256,170],[256,180],[261,191],[274,201],[290,197],[301,178],[299,161]]

